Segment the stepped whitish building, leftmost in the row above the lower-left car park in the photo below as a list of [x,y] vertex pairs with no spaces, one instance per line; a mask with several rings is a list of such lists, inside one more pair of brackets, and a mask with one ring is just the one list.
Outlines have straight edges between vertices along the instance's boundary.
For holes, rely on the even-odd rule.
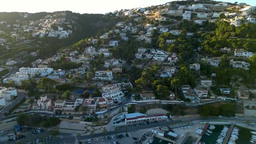
[[37,100],[37,104],[33,104],[33,109],[35,110],[48,110],[51,106],[51,99],[47,98],[47,95],[40,97]]

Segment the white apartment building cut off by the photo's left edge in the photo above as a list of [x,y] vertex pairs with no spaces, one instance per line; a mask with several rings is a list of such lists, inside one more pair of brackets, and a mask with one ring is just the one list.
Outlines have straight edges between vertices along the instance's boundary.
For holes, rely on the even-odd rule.
[[4,98],[5,101],[11,100],[12,97],[17,97],[17,89],[13,87],[0,87],[0,98]]

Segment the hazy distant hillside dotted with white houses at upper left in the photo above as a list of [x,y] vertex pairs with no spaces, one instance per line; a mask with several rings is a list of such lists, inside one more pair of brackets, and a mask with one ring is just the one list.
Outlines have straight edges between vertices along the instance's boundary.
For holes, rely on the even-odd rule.
[[71,11],[0,13],[0,59],[11,56],[24,61],[28,53],[38,50],[44,50],[44,57],[51,56],[63,46],[106,32],[117,20],[112,15]]

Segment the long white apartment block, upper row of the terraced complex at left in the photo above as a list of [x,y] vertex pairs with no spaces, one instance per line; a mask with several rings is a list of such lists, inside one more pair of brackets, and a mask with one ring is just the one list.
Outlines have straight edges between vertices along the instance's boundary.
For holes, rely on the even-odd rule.
[[20,68],[21,73],[29,73],[31,76],[40,74],[40,76],[46,76],[53,73],[53,68]]

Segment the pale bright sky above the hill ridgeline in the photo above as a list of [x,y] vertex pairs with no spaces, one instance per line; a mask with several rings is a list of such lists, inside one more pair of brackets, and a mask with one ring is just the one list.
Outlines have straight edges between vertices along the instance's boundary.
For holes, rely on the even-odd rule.
[[[173,0],[1,0],[0,11],[38,13],[70,10],[80,14],[104,14],[121,9],[165,4],[170,1]],[[223,2],[246,2],[256,5],[256,0],[223,0]]]

